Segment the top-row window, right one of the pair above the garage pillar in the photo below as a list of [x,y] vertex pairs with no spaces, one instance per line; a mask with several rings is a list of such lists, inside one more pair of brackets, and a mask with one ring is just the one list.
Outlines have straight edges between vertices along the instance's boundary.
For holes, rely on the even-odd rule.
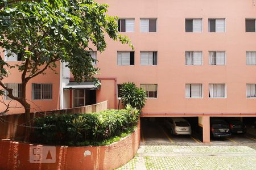
[[225,19],[209,19],[209,32],[225,32]]

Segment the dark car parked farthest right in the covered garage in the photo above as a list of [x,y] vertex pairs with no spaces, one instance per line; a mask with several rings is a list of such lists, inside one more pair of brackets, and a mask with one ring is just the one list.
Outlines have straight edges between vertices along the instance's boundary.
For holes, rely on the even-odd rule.
[[227,118],[226,121],[229,123],[229,128],[231,130],[231,133],[237,133],[237,134],[246,133],[246,127],[242,121],[238,120],[237,118]]

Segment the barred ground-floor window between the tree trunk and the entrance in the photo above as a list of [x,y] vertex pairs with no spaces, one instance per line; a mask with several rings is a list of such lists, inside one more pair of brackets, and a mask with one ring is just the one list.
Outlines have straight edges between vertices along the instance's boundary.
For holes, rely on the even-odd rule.
[[32,83],[32,100],[52,99],[52,84]]

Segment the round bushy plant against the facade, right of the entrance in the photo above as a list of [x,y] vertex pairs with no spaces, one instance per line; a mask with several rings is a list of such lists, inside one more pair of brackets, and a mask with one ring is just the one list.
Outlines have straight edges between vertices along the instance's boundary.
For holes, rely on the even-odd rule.
[[146,103],[146,91],[138,88],[134,83],[123,83],[120,88],[120,96],[123,105],[130,104],[131,107],[141,110]]

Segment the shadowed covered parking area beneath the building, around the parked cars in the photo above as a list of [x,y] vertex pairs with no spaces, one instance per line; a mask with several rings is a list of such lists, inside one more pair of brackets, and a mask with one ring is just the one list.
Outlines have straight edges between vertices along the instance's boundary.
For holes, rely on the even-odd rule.
[[[191,135],[172,135],[164,126],[164,120],[170,117],[183,117],[189,122],[192,129]],[[210,137],[211,118],[233,117],[245,123],[246,134],[232,134],[225,138]],[[255,143],[256,131],[254,122],[256,114],[142,114],[141,116],[141,141],[142,143],[211,143],[211,144],[235,144]],[[251,130],[252,129],[252,130]]]

